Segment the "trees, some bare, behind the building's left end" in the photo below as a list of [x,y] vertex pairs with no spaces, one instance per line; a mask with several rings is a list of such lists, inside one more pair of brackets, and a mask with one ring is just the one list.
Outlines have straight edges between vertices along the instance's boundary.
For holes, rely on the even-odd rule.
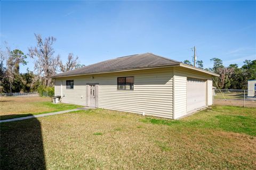
[[[36,45],[29,47],[26,55],[20,49],[10,49],[7,45],[1,48],[0,93],[50,89],[54,85],[51,75],[84,66],[78,63],[78,56],[73,53],[69,53],[66,63],[62,62],[60,55],[54,52],[56,38],[43,39],[41,35],[35,34],[35,39]],[[20,73],[20,65],[27,65],[28,57],[34,60],[34,71],[27,69],[26,73]]]

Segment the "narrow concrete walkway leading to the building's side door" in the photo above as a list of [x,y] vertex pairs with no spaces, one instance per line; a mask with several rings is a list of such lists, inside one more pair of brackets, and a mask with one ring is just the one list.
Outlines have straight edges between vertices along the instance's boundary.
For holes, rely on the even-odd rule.
[[81,110],[87,110],[87,109],[89,109],[89,108],[83,107],[83,108],[76,108],[76,109],[71,109],[71,110],[67,110],[67,111],[59,111],[59,112],[44,113],[44,114],[33,115],[33,116],[10,118],[10,119],[6,119],[6,120],[2,120],[2,121],[0,121],[0,123],[2,123],[2,122],[12,122],[12,121],[21,121],[21,120],[25,120],[25,119],[29,119],[29,118],[37,118],[37,117],[58,115],[58,114],[62,114],[62,113],[68,113],[68,112],[73,112],[73,111],[81,111]]

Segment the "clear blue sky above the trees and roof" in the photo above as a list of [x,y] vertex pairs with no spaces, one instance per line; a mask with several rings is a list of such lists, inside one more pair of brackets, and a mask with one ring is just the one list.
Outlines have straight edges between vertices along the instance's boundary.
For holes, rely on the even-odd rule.
[[212,57],[241,66],[256,60],[256,2],[1,1],[0,33],[1,46],[26,54],[34,33],[54,36],[55,55],[85,65],[146,52],[191,60],[196,46],[204,67]]

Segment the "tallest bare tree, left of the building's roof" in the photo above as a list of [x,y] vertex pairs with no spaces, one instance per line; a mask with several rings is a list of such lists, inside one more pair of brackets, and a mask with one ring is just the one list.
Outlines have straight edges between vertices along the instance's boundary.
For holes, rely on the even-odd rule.
[[36,77],[32,83],[40,81],[44,86],[52,86],[51,75],[57,73],[59,57],[54,56],[53,43],[56,41],[54,37],[48,37],[43,40],[41,35],[35,34],[36,47],[30,47],[29,56],[35,60],[34,71]]

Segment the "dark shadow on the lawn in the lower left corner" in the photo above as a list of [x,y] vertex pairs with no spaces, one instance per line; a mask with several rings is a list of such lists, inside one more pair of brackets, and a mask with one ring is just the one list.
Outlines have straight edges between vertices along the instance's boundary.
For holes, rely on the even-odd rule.
[[41,123],[37,118],[0,123],[0,129],[0,169],[46,169]]

